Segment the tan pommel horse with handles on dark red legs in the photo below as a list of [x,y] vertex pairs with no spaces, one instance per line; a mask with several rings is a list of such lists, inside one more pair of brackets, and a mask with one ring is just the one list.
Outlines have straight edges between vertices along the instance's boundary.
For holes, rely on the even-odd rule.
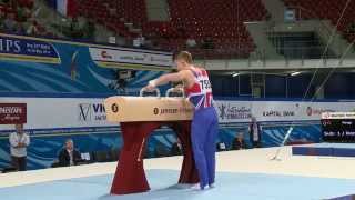
[[[110,97],[104,100],[106,119],[120,122],[123,148],[111,187],[111,194],[128,194],[150,190],[143,168],[148,137],[155,129],[168,126],[179,137],[183,149],[183,163],[179,183],[197,183],[191,148],[191,119],[193,106],[185,98],[166,97]],[[159,90],[156,91],[160,96]]]

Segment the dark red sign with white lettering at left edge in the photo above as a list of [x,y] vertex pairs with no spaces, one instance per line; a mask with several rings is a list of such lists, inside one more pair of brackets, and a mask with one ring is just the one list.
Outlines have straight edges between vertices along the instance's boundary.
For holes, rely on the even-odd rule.
[[17,124],[26,122],[26,103],[0,103],[0,124]]

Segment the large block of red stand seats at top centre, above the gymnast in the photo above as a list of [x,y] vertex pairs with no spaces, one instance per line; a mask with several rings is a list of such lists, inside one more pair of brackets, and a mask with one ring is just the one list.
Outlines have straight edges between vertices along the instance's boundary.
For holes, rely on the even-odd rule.
[[[247,57],[254,43],[243,22],[260,21],[266,17],[261,0],[169,0],[170,21],[149,21],[145,0],[82,0],[80,13],[94,18],[116,33],[134,38],[124,23],[141,28],[143,36],[154,39],[160,48],[178,51],[185,49],[187,38],[193,38],[206,57]],[[203,4],[203,7],[201,7]],[[140,14],[138,14],[140,13]],[[203,44],[213,43],[210,50]],[[232,52],[232,53],[231,53]]]

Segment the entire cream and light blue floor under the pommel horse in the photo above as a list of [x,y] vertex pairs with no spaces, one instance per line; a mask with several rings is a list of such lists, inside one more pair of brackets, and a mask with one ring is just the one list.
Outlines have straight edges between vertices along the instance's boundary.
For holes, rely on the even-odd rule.
[[[0,197],[6,200],[84,199],[332,199],[355,193],[355,160],[292,156],[284,147],[217,153],[216,186],[197,191],[176,184],[181,157],[146,159],[151,191],[110,196],[115,170],[112,163],[94,163],[0,174]],[[1,198],[3,199],[3,198]]]

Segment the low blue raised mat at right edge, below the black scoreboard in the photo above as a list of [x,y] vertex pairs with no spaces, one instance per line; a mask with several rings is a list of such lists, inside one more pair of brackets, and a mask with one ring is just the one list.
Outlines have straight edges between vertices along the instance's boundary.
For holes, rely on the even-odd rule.
[[295,156],[355,157],[355,143],[314,143],[292,147]]

